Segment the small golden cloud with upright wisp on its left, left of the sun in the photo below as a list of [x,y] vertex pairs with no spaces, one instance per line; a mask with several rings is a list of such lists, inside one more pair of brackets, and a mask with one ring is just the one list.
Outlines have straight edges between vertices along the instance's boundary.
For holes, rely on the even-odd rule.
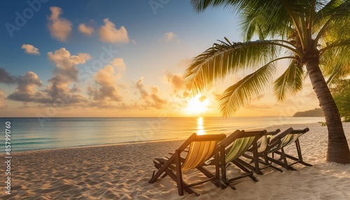
[[165,106],[167,106],[167,100],[162,99],[158,94],[158,92],[159,92],[158,87],[153,86],[153,87],[151,87],[151,93],[147,92],[147,90],[145,89],[145,86],[144,86],[144,77],[141,77],[137,81],[136,88],[141,95],[140,99],[144,101],[143,103],[139,103],[139,105],[138,105],[139,108],[161,109],[161,108],[164,108]]

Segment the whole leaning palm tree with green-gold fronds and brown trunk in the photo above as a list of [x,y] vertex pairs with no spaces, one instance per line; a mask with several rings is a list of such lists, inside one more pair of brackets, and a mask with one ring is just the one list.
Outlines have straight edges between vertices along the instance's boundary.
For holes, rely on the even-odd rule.
[[[192,0],[197,12],[209,7],[236,10],[244,42],[228,38],[193,58],[184,79],[194,94],[230,73],[253,71],[223,92],[220,106],[232,115],[272,83],[276,99],[302,90],[309,77],[328,127],[329,162],[350,163],[342,121],[325,78],[349,75],[350,1],[342,0]],[[251,41],[253,36],[260,40]],[[283,52],[283,53],[281,53]],[[287,60],[286,71],[274,79],[276,62]]]

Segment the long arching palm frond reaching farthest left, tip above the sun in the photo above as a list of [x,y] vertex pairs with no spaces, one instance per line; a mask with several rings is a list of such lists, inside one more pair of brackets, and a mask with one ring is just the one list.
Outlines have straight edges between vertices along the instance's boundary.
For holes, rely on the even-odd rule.
[[209,83],[223,79],[229,73],[257,69],[279,54],[279,43],[247,41],[245,43],[215,43],[193,59],[183,78],[188,90],[196,94]]

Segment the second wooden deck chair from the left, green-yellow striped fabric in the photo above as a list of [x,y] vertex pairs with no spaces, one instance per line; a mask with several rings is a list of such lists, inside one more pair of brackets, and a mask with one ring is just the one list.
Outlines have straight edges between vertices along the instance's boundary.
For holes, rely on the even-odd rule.
[[[242,164],[242,160],[239,159],[241,155],[246,152],[251,146],[253,146],[253,155],[255,156],[255,166],[258,166],[258,152],[257,143],[258,139],[266,134],[266,130],[263,131],[235,131],[230,136],[225,138],[218,144],[219,152],[220,152],[220,166],[221,166],[221,180],[225,183],[225,185],[230,186],[235,190],[235,187],[230,185],[230,183],[239,178],[249,177],[255,182],[258,181],[255,176],[253,176],[253,171],[248,170],[244,164]],[[225,156],[223,156],[225,155]],[[235,177],[235,178],[227,178],[226,176],[226,166],[228,163],[235,164],[239,167],[245,174]]]

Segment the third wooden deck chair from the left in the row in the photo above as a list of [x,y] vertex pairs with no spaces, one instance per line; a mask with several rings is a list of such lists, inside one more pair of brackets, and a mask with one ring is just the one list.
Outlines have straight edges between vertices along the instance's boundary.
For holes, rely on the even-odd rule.
[[[260,139],[258,139],[257,141],[257,150],[256,152],[258,152],[258,159],[256,159],[256,156],[254,157],[253,155],[248,154],[247,152],[251,152],[254,154],[254,148],[250,148],[246,151],[246,153],[244,153],[244,157],[251,159],[251,162],[243,162],[240,161],[242,165],[244,165],[246,168],[250,169],[251,171],[262,175],[262,169],[266,169],[268,167],[272,167],[273,169],[276,169],[277,171],[283,172],[281,169],[277,168],[276,166],[273,166],[271,162],[269,162],[267,154],[264,154],[267,145],[269,145],[269,139],[272,138],[274,135],[278,134],[281,130],[280,129],[276,129],[276,131],[269,131],[266,132],[266,134],[264,134],[263,136],[261,136]],[[255,152],[255,154],[256,154]],[[260,157],[262,157],[262,159],[260,159]],[[257,160],[258,163],[257,164]],[[251,166],[251,163],[254,162],[254,166]],[[263,164],[263,166],[260,166],[260,164]]]

